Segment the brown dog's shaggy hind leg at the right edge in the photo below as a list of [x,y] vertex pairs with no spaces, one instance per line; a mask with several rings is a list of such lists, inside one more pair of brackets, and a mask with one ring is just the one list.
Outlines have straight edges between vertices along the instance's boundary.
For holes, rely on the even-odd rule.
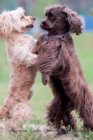
[[84,129],[93,131],[93,95],[88,86],[83,87],[80,106],[80,117],[83,120]]

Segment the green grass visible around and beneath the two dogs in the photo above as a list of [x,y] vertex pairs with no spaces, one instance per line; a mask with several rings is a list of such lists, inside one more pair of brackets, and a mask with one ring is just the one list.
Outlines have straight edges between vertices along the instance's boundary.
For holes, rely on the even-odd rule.
[[[74,43],[75,43],[75,49],[78,54],[79,60],[81,62],[84,75],[86,77],[86,80],[89,84],[90,89],[93,92],[93,33],[84,33],[80,36],[73,36]],[[5,42],[4,40],[0,39],[0,106],[3,104],[5,97],[8,93],[8,85],[9,85],[9,77],[10,77],[10,69],[9,64],[7,61],[6,51],[5,51]],[[48,86],[43,86],[41,81],[41,75],[40,73],[37,74],[36,82],[33,86],[34,96],[32,97],[30,101],[30,105],[32,108],[32,118],[30,120],[29,124],[45,124],[45,115],[46,115],[46,108],[45,106],[48,105],[48,103],[53,98],[51,94],[51,90]],[[78,115],[76,114],[77,118]],[[79,129],[82,129],[82,123],[80,119],[78,119],[79,123]],[[19,138],[16,138],[17,135],[12,135],[8,137],[9,134],[6,134],[8,140],[19,140]],[[28,135],[27,138],[25,138]],[[23,136],[23,135],[22,135]],[[36,137],[37,138],[36,138]],[[18,136],[19,137],[19,136]],[[23,138],[24,137],[24,138]],[[37,135],[31,135],[29,132],[23,136],[22,140],[42,140],[41,136]],[[32,137],[32,138],[31,138]],[[34,138],[35,137],[35,138]],[[93,139],[93,133],[80,133],[81,139],[85,140],[92,140]],[[10,139],[11,138],[11,139]],[[0,140],[5,140],[3,134],[0,135]],[[46,138],[43,138],[45,140]]]

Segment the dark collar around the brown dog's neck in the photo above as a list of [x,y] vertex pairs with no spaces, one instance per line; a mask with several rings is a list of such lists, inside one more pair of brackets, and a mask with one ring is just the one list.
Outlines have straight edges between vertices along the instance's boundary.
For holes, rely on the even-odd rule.
[[67,35],[68,33],[64,34],[64,35],[55,35],[55,36],[49,36],[48,34],[46,34],[44,37],[43,37],[43,42],[44,41],[48,41],[50,39],[62,39],[64,40],[65,39],[65,36]]

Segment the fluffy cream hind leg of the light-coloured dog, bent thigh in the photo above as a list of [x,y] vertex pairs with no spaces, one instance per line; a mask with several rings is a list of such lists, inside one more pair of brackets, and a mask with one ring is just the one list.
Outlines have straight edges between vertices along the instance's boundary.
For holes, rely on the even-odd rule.
[[5,120],[5,127],[12,131],[21,131],[25,122],[31,117],[31,108],[27,102],[19,102],[10,112],[10,119]]

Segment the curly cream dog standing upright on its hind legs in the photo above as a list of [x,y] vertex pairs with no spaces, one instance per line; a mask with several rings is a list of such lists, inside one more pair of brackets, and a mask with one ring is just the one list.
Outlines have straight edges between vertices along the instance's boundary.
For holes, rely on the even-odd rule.
[[25,16],[24,12],[19,7],[0,15],[0,37],[5,38],[11,71],[8,96],[0,108],[0,119],[4,118],[0,128],[9,130],[19,130],[18,125],[28,121],[32,114],[28,100],[37,73],[37,55],[32,54],[36,40],[24,33],[33,28],[35,18]]

